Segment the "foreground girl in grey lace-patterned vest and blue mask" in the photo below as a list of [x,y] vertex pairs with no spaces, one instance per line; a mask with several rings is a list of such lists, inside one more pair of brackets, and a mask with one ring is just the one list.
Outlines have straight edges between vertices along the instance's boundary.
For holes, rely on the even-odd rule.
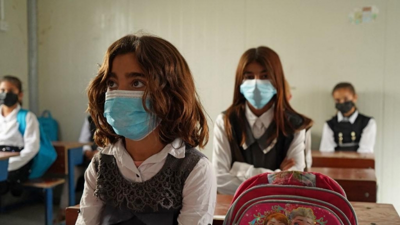
[[126,35],[88,86],[104,147],[85,172],[76,224],[210,224],[216,199],[208,126],[189,67],[168,41]]

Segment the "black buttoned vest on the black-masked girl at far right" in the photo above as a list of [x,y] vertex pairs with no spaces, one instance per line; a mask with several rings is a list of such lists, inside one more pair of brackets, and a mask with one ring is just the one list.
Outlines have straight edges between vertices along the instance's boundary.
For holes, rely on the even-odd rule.
[[337,121],[337,115],[326,121],[329,128],[333,131],[335,151],[357,151],[362,130],[368,124],[371,117],[358,113],[354,123],[349,121]]

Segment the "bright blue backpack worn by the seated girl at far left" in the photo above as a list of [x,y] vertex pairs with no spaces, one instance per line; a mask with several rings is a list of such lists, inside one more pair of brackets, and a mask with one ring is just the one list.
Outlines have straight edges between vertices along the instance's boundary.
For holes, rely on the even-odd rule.
[[[16,114],[16,120],[19,123],[19,132],[25,133],[26,127],[26,114],[28,110],[20,109]],[[51,164],[55,161],[57,157],[57,152],[55,151],[50,139],[48,139],[46,133],[39,122],[39,132],[40,132],[40,143],[39,152],[34,156],[32,166],[30,167],[29,179],[34,179],[42,176]]]

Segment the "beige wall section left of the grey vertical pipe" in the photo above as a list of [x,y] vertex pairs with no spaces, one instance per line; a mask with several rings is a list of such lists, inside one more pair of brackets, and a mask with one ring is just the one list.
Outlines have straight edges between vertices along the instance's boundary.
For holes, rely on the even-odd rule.
[[14,75],[22,81],[23,107],[29,108],[26,0],[4,0],[8,30],[0,30],[0,76]]

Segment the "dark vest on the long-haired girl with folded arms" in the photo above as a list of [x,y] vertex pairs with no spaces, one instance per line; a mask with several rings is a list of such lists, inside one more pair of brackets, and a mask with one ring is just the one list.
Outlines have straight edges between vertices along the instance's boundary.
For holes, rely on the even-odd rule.
[[[302,124],[302,118],[296,114],[288,114],[286,113],[289,122],[294,127],[299,127]],[[262,167],[271,170],[278,169],[283,159],[286,157],[287,150],[289,149],[290,143],[293,140],[293,134],[288,134],[285,136],[281,131],[275,140],[267,142],[268,137],[275,132],[275,122],[272,121],[265,132],[258,138],[255,139],[251,127],[248,124],[246,119],[245,124],[245,133],[246,139],[245,143],[247,145],[246,149],[240,145],[241,133],[240,125],[236,118],[231,116],[229,118],[231,124],[231,132],[233,136],[233,141],[229,143],[230,151],[232,155],[232,162],[246,162],[248,164],[254,165],[254,167]],[[272,142],[275,142],[273,144]],[[263,149],[271,147],[270,150],[266,153],[263,152]]]

